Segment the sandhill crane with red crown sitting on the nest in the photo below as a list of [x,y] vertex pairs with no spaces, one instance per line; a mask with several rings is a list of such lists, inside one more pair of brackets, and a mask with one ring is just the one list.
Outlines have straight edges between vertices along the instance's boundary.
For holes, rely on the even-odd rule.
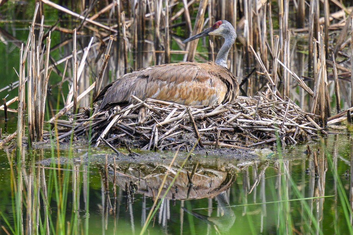
[[239,85],[227,68],[228,52],[237,37],[234,27],[226,20],[219,20],[183,43],[207,35],[222,36],[225,39],[215,63],[179,62],[125,74],[98,94],[95,101],[102,100],[99,110],[108,105],[131,103],[131,95],[141,100],[152,98],[191,106],[211,106],[234,101]]

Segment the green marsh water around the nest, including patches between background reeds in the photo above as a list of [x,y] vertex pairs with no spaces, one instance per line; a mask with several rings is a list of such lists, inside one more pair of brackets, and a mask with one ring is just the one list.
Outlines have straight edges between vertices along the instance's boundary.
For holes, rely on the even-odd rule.
[[[14,9],[10,7],[10,16]],[[0,24],[23,42],[28,25]],[[62,36],[53,35],[53,41]],[[292,69],[304,75],[307,56],[297,41],[299,36],[292,39]],[[19,50],[6,42],[0,43],[0,88],[9,88],[1,89],[0,98],[8,94],[9,100],[17,95],[13,67],[18,70]],[[141,60],[138,67],[150,65],[151,51],[141,50],[134,55]],[[234,58],[242,56],[239,52]],[[243,64],[239,68],[237,76],[248,69]],[[118,72],[111,68],[108,74],[114,79]],[[59,75],[50,77],[48,117],[57,112],[53,107],[62,106],[61,91],[68,91],[67,81],[58,88],[60,80]],[[243,92],[252,95],[262,84],[261,77],[252,76]],[[301,107],[309,103],[303,92],[292,98]],[[0,112],[2,136],[16,131],[16,123],[16,113],[5,120]],[[154,201],[160,207],[147,234],[352,234],[353,130],[343,123],[328,132],[293,146],[261,147],[271,153],[180,150],[171,166],[175,152],[135,150],[139,155],[118,156],[104,145],[58,146],[48,139],[16,156],[10,144],[0,150],[0,234],[140,234]],[[163,199],[157,198],[159,189]]]

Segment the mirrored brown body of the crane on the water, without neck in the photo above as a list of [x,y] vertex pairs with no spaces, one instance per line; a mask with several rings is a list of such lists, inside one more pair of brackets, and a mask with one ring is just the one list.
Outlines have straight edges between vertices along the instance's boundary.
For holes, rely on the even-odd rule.
[[[169,168],[167,164],[152,163],[135,167],[118,166],[116,169],[116,185],[127,188],[130,194],[139,193],[145,194],[147,197],[154,197],[157,195],[167,169],[169,169],[169,173],[162,186],[163,195],[177,174],[178,166]],[[112,179],[110,180],[112,181]],[[215,197],[229,188],[234,180],[233,169],[228,172],[225,169],[207,168],[195,163],[193,166],[181,169],[165,198],[168,200],[186,200]]]

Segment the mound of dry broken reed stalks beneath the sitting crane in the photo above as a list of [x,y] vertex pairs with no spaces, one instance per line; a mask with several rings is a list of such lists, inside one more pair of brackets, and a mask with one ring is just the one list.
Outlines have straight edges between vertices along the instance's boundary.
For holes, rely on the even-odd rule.
[[122,109],[115,106],[90,117],[86,108],[71,120],[54,122],[64,127],[58,129],[59,140],[68,139],[73,132],[75,138],[91,136],[90,142],[96,146],[123,144],[148,150],[189,149],[197,141],[201,147],[249,148],[273,144],[277,139],[285,145],[316,136],[320,127],[313,122],[314,114],[304,112],[291,100],[267,96],[238,97],[233,104],[215,107],[133,97],[136,103]]

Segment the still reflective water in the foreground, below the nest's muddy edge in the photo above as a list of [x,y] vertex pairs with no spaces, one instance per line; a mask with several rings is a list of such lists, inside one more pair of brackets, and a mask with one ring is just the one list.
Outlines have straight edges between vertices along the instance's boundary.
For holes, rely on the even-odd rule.
[[2,198],[14,199],[0,205],[0,220],[7,219],[10,233],[139,234],[157,200],[161,206],[149,234],[344,233],[352,229],[352,146],[351,137],[331,135],[312,143],[311,154],[296,146],[283,159],[280,153],[246,161],[196,154],[165,198],[156,198],[157,191],[166,192],[181,165],[169,168],[168,157],[143,163],[116,159],[114,167],[113,156],[107,163],[104,156],[91,156],[89,164],[85,156],[64,154],[60,165],[57,156],[50,165],[41,149],[15,164],[8,152],[8,170],[0,171],[8,178],[2,184],[8,196]]

